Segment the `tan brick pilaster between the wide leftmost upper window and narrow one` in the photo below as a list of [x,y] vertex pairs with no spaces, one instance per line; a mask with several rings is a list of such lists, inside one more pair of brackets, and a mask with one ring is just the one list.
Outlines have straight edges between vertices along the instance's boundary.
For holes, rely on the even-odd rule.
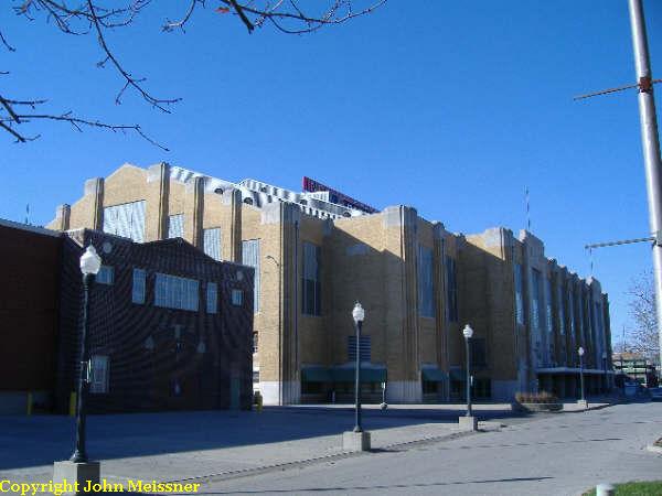
[[170,165],[164,162],[147,170],[146,237],[148,241],[168,237],[168,203],[170,198]]

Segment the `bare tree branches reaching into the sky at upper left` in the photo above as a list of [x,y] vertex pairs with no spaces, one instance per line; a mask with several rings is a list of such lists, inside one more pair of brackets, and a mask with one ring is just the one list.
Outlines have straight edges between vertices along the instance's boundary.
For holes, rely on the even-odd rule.
[[[220,4],[214,12],[232,13],[236,15],[253,32],[256,28],[263,28],[266,21],[278,31],[291,34],[310,33],[322,26],[340,24],[359,15],[373,12],[383,6],[386,0],[355,0],[369,7],[354,11],[352,0],[325,0],[325,9],[317,13],[310,13],[310,4],[302,8],[298,0],[216,0]],[[124,84],[115,97],[116,104],[121,104],[122,96],[127,90],[136,91],[150,106],[170,114],[170,106],[181,98],[158,98],[145,87],[146,78],[136,77],[121,63],[108,43],[108,31],[122,29],[131,25],[136,17],[143,12],[152,0],[10,0],[13,3],[13,12],[29,21],[43,18],[47,24],[54,25],[64,34],[85,36],[94,34],[96,43],[103,53],[103,58],[97,62],[98,67],[110,65],[124,80]],[[310,2],[312,3],[312,2]],[[319,3],[320,2],[316,2]],[[188,0],[186,9],[179,20],[167,19],[161,24],[161,30],[172,32],[185,28],[190,23],[195,10],[206,7],[206,0]],[[9,52],[15,52],[15,47],[9,43],[0,31],[0,45]],[[0,75],[9,74],[0,71]],[[35,107],[45,104],[43,99],[22,100],[0,96],[0,130],[11,134],[18,142],[26,142],[39,138],[39,134],[29,137],[22,132],[22,126],[33,121],[53,120],[68,122],[74,129],[82,131],[82,127],[93,127],[110,131],[132,131],[138,133],[148,142],[167,150],[162,144],[149,138],[140,126],[110,125],[99,120],[75,117],[71,111],[64,114],[24,114],[17,110],[21,107]],[[21,127],[21,128],[19,128]]]

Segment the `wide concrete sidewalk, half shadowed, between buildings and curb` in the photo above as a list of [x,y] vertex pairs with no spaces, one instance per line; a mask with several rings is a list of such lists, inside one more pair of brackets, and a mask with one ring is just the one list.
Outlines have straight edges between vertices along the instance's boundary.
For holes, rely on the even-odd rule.
[[[88,418],[88,453],[102,461],[109,482],[134,479],[220,479],[344,457],[341,434],[354,422],[351,405],[266,408],[264,412],[178,412]],[[568,407],[570,408],[570,407]],[[462,405],[397,405],[386,411],[366,406],[364,429],[372,448],[458,435]],[[479,428],[526,422],[534,416],[510,405],[477,405]],[[537,414],[536,414],[537,416]],[[47,482],[52,463],[67,459],[73,419],[55,416],[8,417],[0,432],[0,478]]]

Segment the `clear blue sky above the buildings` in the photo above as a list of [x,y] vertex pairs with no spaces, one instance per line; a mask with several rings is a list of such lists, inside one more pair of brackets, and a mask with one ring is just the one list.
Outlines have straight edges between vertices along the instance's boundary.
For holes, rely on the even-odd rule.
[[[213,1],[185,34],[167,34],[161,24],[179,11],[156,3],[108,41],[154,95],[182,98],[171,115],[131,93],[115,105],[121,80],[95,67],[93,36],[66,36],[6,8],[2,31],[18,51],[0,52],[0,68],[11,71],[4,94],[139,122],[171,151],[55,123],[28,144],[0,136],[0,217],[22,220],[29,203],[31,220],[45,224],[81,196],[85,179],[167,161],[290,188],[309,175],[377,207],[413,205],[459,233],[525,227],[528,186],[533,233],[583,277],[586,242],[649,233],[637,94],[572,99],[634,82],[626,0],[389,0],[302,36],[248,35]],[[644,7],[660,77],[662,2]],[[650,247],[606,248],[594,263],[618,338],[626,291],[650,268]]]

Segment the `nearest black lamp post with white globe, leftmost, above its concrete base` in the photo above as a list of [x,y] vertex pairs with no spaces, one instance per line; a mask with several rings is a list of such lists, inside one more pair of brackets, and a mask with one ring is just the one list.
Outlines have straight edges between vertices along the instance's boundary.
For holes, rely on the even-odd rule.
[[95,276],[102,268],[102,259],[94,246],[89,245],[81,257],[81,272],[83,273],[83,325],[81,332],[81,375],[78,376],[78,393],[76,401],[76,446],[70,461],[86,463],[85,450],[85,393],[89,385],[89,369],[87,356],[87,315],[89,313],[89,287]]

